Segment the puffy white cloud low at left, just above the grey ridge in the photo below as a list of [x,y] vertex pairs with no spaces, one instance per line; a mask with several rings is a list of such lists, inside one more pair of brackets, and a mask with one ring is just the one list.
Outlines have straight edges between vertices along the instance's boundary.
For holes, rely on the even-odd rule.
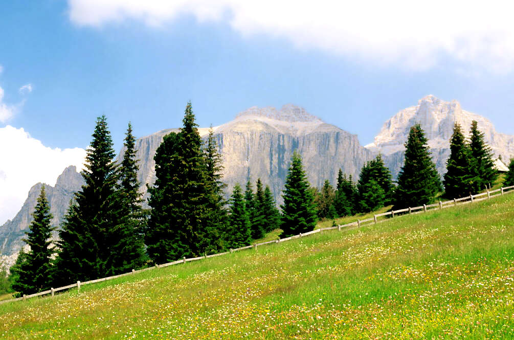
[[81,148],[46,147],[23,128],[0,128],[0,225],[21,209],[35,183],[55,185],[69,165],[83,168],[86,152]]

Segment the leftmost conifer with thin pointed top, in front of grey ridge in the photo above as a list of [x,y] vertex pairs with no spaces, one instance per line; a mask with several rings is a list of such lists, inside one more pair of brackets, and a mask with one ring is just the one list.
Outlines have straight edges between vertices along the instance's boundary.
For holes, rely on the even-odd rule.
[[23,294],[34,294],[50,288],[51,233],[54,228],[50,226],[52,214],[45,194],[45,186],[41,186],[41,192],[32,214],[32,222],[29,231],[23,239],[30,246],[28,253],[21,252],[17,265],[12,267],[12,289]]

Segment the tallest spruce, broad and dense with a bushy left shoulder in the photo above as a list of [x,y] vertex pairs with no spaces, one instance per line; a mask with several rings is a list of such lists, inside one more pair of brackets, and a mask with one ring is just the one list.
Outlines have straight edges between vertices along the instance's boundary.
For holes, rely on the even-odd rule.
[[209,243],[209,198],[205,155],[191,102],[178,134],[164,138],[155,154],[157,180],[150,188],[152,207],[147,252],[155,263],[204,254]]

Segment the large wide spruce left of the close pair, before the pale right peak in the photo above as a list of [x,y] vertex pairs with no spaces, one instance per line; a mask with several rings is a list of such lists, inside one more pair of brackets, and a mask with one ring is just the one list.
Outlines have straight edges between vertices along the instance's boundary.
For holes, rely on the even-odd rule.
[[421,126],[412,126],[405,143],[405,162],[398,175],[395,209],[431,203],[441,189],[427,142]]

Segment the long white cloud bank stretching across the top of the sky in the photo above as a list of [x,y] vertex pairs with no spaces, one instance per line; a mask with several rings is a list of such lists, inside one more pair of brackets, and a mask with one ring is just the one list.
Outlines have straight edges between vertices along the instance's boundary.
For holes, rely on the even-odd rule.
[[70,20],[102,26],[139,20],[158,26],[191,14],[267,34],[302,49],[426,70],[449,56],[494,72],[514,66],[514,3],[508,1],[68,0]]

